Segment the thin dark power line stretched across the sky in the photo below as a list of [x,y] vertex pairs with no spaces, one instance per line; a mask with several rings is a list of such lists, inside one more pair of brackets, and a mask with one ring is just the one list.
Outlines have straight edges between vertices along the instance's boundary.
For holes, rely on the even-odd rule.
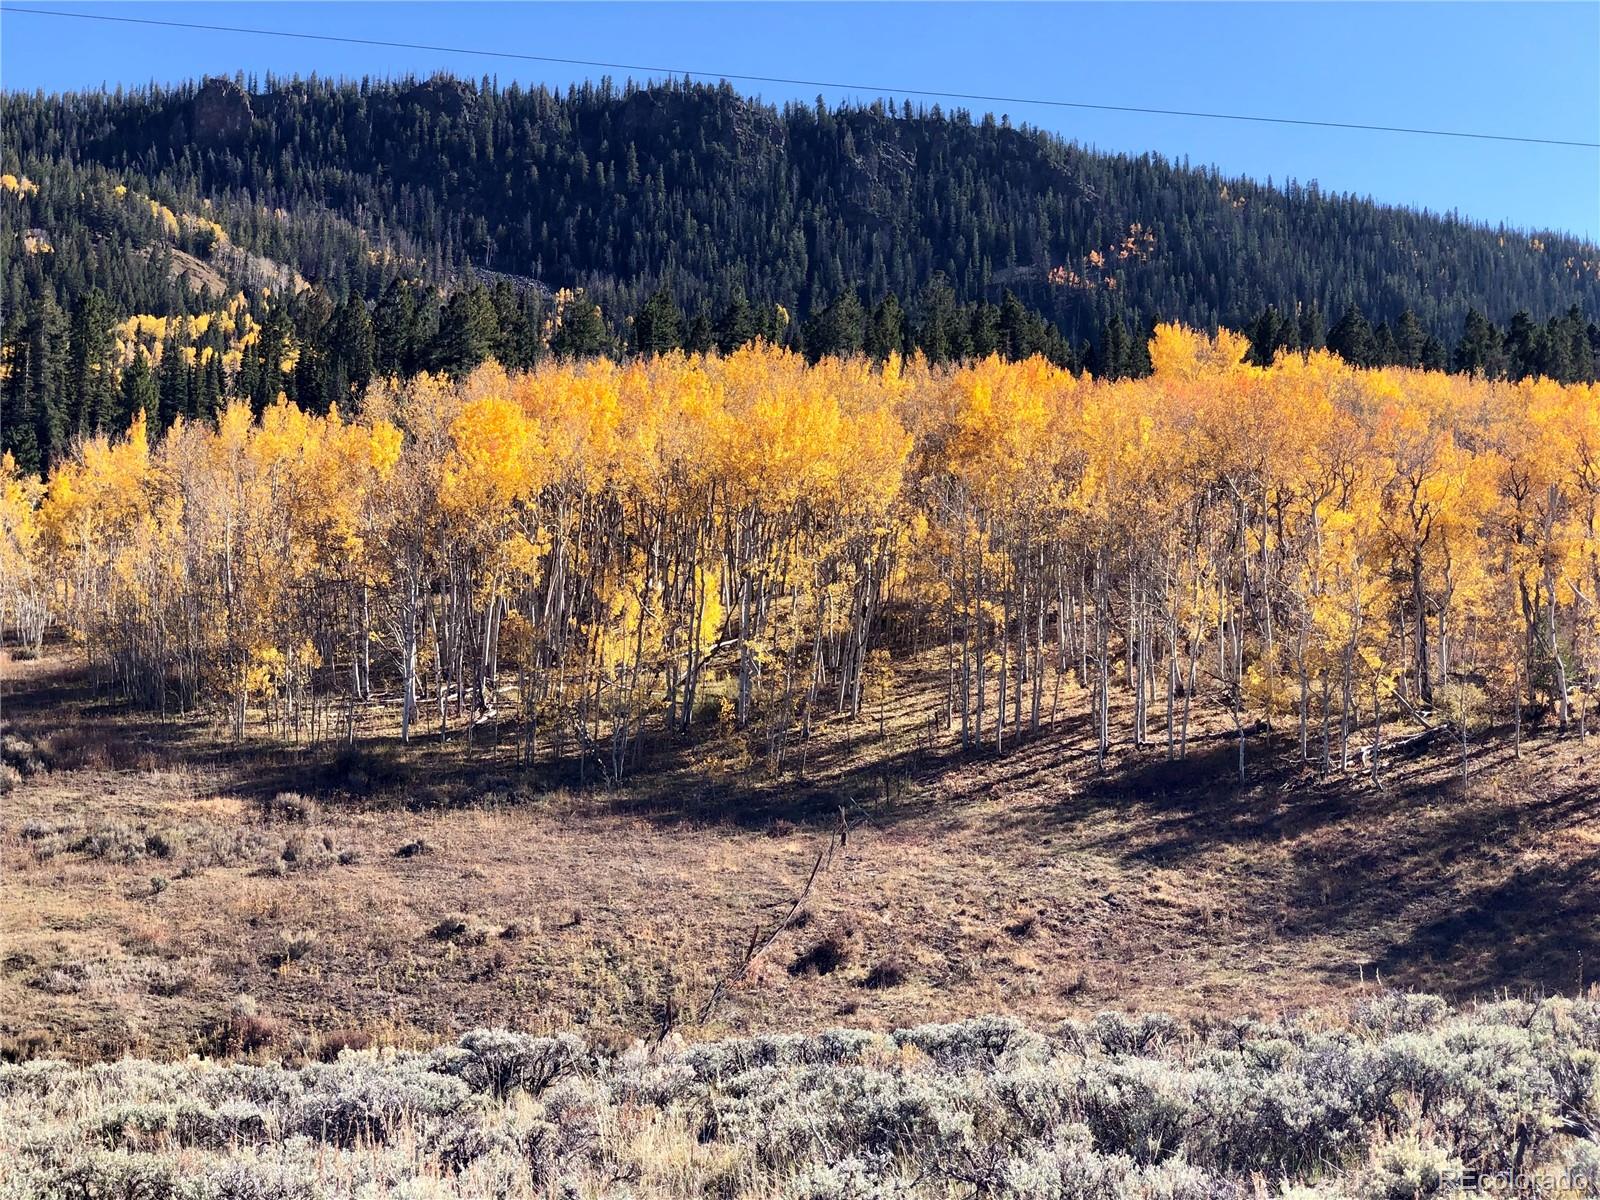
[[0,6],[0,13],[27,13],[30,16],[61,16],[78,21],[115,21],[126,26],[162,26],[166,29],[200,29],[210,34],[251,34],[254,37],[285,37],[302,42],[342,42],[354,46],[384,46],[389,50],[426,50],[437,54],[477,54],[482,58],[506,58],[520,62],[552,62],[568,67],[600,67],[602,70],[637,70],[651,75],[686,75],[691,78],[736,80],[739,83],[779,83],[800,88],[834,88],[837,91],[866,91],[883,96],[933,96],[939,99],[976,101],[981,104],[1032,104],[1046,109],[1091,109],[1096,112],[1136,112],[1150,117],[1194,117],[1218,122],[1254,122],[1259,125],[1302,125],[1318,130],[1360,130],[1363,133],[1408,133],[1429,138],[1469,138],[1493,142],[1525,142],[1530,146],[1576,146],[1600,150],[1600,142],[1566,141],[1562,138],[1525,138],[1507,133],[1472,133],[1466,130],[1422,130],[1405,125],[1362,125],[1358,122],[1323,122],[1306,117],[1261,117],[1240,112],[1195,112],[1190,109],[1150,109],[1136,104],[1090,104],[1086,101],[1040,99],[1034,96],[986,96],[973,91],[941,91],[938,88],[886,88],[867,83],[837,83],[814,78],[786,78],[782,75],[744,75],[731,70],[685,70],[680,67],[653,67],[638,62],[600,62],[586,58],[557,58],[554,54],[522,54],[512,50],[470,50],[464,46],[437,46],[424,42],[389,42],[371,37],[341,37],[336,34],[302,34],[286,29],[246,29],[243,26],[208,26],[195,21],[158,21],[142,16],[107,16],[104,13],[61,13],[50,8]]

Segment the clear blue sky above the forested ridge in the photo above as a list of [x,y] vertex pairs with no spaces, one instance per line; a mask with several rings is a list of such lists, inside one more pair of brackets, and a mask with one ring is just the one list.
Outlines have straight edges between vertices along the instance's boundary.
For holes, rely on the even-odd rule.
[[[1600,3],[114,3],[29,6],[514,50],[714,74],[771,101],[885,88],[1411,125],[1600,142]],[[6,0],[11,3],[11,0]],[[235,70],[453,70],[568,83],[509,59],[29,14],[0,16],[0,83],[46,91]],[[629,72],[611,72],[616,78]],[[931,102],[931,101],[930,101]],[[949,104],[949,102],[947,102]],[[974,110],[987,106],[970,104]],[[995,106],[1107,150],[1317,179],[1381,202],[1600,238],[1600,150]]]

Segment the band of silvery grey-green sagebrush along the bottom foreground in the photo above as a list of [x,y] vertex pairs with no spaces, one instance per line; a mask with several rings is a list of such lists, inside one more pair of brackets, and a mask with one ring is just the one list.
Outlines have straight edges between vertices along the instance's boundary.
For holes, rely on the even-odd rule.
[[0,1200],[1426,1200],[1597,1176],[1592,1000],[0,1066]]

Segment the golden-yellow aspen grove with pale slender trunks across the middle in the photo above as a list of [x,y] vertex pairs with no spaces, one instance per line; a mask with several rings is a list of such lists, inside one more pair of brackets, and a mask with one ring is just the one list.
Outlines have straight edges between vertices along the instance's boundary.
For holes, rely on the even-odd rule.
[[1101,762],[1178,758],[1208,715],[1243,774],[1264,728],[1322,770],[1582,733],[1600,387],[1246,352],[1163,325],[1106,382],[755,344],[138,419],[43,482],[6,461],[0,619],[235,736],[493,723],[610,779],[699,725],[800,765],[912,659],[963,747],[1088,715]]

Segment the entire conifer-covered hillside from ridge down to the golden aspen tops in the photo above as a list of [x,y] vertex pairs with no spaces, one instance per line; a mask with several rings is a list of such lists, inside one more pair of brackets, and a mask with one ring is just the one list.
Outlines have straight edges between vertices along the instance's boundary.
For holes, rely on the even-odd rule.
[[728,86],[210,80],[6,96],[0,450],[350,408],[374,378],[765,339],[1149,371],[1251,360],[1595,378],[1600,250],[1093,154],[1005,118]]

